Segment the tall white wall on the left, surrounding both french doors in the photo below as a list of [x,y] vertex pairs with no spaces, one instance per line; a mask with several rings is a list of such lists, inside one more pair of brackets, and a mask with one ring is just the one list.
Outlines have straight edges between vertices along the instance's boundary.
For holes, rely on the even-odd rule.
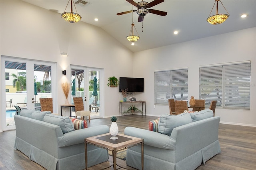
[[[57,63],[58,113],[65,103],[61,83],[70,81],[70,65],[104,69],[105,116],[119,114],[122,96],[118,88],[107,86],[108,77],[132,77],[132,52],[104,30],[84,22],[71,24],[60,14],[23,1],[0,1],[0,54]],[[60,52],[67,52],[63,57]],[[66,76],[62,75],[66,70]],[[0,73],[1,74],[1,73]],[[4,95],[4,97],[3,97]],[[1,106],[5,93],[1,89]],[[1,107],[2,109],[2,107]],[[2,122],[2,121],[0,121]],[[1,130],[0,126],[0,130]]]

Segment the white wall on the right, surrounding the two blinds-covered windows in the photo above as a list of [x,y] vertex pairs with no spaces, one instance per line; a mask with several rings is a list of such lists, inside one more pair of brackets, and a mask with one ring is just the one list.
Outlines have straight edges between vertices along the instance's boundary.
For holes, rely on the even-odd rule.
[[188,96],[199,97],[199,66],[251,61],[250,111],[216,109],[222,123],[256,126],[256,28],[168,45],[134,53],[134,73],[144,77],[147,115],[169,113],[169,106],[154,108],[154,71],[188,67]]

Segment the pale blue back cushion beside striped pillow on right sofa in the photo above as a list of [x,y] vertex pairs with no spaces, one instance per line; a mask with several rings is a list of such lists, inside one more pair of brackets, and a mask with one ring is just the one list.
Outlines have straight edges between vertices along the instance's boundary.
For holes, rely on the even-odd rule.
[[190,113],[180,115],[161,115],[158,123],[158,132],[171,136],[172,130],[181,125],[191,123]]

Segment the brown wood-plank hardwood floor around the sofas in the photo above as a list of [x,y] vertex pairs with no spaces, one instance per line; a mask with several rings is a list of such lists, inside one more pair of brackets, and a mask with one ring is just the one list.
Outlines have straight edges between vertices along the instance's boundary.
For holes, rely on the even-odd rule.
[[[152,116],[125,115],[117,117],[117,124],[120,133],[124,133],[124,128],[128,126],[148,129],[148,121],[156,119]],[[92,119],[88,127],[97,125],[108,125],[110,118]],[[16,130],[0,133],[0,170],[42,170],[42,166],[36,164],[18,150],[14,150]],[[197,170],[255,170],[256,169],[256,127],[244,127],[238,125],[220,124],[219,141],[222,153],[214,156],[201,165]],[[110,162],[88,168],[98,170],[107,167]],[[124,168],[134,170],[126,166],[126,161],[117,160],[117,163]],[[108,168],[112,170],[113,168]]]

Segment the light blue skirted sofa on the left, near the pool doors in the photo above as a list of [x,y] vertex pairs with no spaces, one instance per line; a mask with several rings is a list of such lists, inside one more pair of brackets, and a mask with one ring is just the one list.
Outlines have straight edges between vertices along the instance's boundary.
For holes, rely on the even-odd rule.
[[[84,139],[109,132],[106,125],[73,130],[68,117],[36,110],[23,109],[14,120],[14,148],[47,170],[85,169]],[[88,167],[105,161],[107,150],[88,144]]]

